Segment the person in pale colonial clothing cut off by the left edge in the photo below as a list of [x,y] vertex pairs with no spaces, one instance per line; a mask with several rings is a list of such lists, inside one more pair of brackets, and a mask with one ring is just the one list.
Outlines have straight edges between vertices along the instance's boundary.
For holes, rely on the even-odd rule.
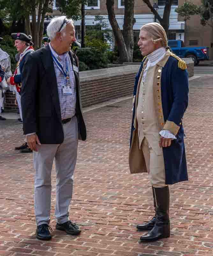
[[[3,38],[0,37],[0,42],[2,40],[3,40]],[[2,66],[2,69],[5,72],[5,76],[4,76],[5,80],[3,82],[7,86],[6,81],[12,75],[11,61],[10,61],[10,56],[6,52],[4,52],[1,48],[0,48],[0,65]],[[7,88],[3,88],[3,86],[0,85],[0,113],[2,112],[2,109],[4,109],[4,103],[5,103],[4,92],[6,90],[7,90]],[[0,116],[0,120],[6,120],[6,118]]]

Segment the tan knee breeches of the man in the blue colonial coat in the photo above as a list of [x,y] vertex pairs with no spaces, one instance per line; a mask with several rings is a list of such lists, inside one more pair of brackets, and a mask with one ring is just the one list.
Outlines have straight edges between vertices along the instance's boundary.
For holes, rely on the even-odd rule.
[[144,137],[141,150],[145,158],[146,168],[149,173],[151,185],[155,188],[165,187],[165,169],[163,150],[161,155],[156,155],[149,145],[148,140]]

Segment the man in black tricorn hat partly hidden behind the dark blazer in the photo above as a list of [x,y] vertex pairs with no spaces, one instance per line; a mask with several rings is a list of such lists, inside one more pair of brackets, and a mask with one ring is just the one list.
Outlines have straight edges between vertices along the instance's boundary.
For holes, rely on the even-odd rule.
[[[19,61],[17,63],[14,75],[7,79],[7,84],[13,86],[13,92],[16,94],[16,102],[18,103],[18,109],[22,121],[22,109],[21,109],[21,86],[22,86],[22,69],[26,62],[28,54],[34,52],[33,43],[31,42],[32,36],[27,36],[24,33],[12,33],[12,38],[15,39],[15,47],[20,53]],[[16,147],[15,150],[21,150],[22,153],[32,152],[25,142],[20,147]]]

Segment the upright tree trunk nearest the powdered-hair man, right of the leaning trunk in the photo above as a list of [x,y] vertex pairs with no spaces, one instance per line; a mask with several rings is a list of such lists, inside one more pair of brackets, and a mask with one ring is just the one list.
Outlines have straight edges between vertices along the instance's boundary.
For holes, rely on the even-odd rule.
[[133,37],[133,19],[134,19],[135,0],[125,0],[123,38],[129,54],[129,61],[132,62],[134,37]]

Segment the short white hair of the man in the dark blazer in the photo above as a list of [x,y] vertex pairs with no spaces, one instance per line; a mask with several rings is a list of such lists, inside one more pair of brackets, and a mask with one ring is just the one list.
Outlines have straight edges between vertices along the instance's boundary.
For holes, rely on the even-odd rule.
[[[47,27],[47,35],[49,36],[50,41],[53,40],[56,36],[56,33],[59,32],[59,29],[60,29],[60,27],[61,27],[65,18],[66,18],[66,16],[60,16],[60,17],[57,17],[57,18],[53,18],[50,21],[50,23]],[[74,24],[72,19],[69,19],[68,23]],[[63,24],[63,27],[61,28],[61,31],[66,27],[66,25],[68,23]]]

